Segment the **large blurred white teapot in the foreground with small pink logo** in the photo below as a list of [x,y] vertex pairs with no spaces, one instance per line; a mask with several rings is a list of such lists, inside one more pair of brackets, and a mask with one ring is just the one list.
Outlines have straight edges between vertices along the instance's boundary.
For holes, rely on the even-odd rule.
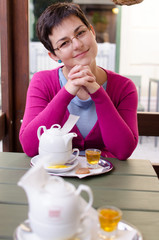
[[[80,222],[93,202],[91,189],[86,185],[74,185],[61,177],[49,176],[42,166],[30,169],[19,181],[29,200],[29,221],[40,239],[64,240],[74,236]],[[89,201],[80,204],[80,193],[85,191]]]

